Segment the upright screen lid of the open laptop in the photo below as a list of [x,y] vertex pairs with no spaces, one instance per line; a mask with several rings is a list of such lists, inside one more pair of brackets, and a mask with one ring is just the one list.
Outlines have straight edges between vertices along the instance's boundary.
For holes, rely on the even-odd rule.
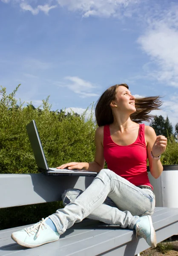
[[26,125],[26,130],[29,135],[29,140],[33,149],[34,158],[36,160],[39,169],[48,170],[48,164],[46,157],[41,145],[40,136],[37,131],[37,126],[35,121],[32,120],[28,125]]

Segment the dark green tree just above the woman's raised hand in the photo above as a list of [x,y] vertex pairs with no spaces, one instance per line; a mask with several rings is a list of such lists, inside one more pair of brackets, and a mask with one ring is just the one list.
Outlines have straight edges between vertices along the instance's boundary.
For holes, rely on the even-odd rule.
[[172,134],[172,124],[169,122],[169,118],[167,116],[164,119],[163,116],[155,116],[155,118],[150,123],[150,126],[155,130],[156,135],[164,135],[168,137]]

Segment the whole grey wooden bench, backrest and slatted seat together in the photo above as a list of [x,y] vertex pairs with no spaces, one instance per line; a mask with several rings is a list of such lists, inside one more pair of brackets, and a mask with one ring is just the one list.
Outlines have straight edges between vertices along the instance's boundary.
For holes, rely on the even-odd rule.
[[[83,190],[92,180],[93,177],[0,174],[0,208],[59,201],[65,189]],[[178,209],[157,207],[152,221],[157,241],[163,241],[178,232]],[[143,238],[136,239],[133,230],[86,219],[66,230],[58,241],[29,249],[11,239],[11,233],[22,228],[0,230],[0,256],[135,256],[149,247]]]

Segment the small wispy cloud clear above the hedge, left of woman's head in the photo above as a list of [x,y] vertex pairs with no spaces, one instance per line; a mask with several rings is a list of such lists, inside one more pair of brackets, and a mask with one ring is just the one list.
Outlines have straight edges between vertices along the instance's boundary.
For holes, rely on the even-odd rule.
[[89,81],[85,81],[78,76],[67,76],[64,79],[67,81],[58,83],[58,86],[68,87],[81,98],[100,96],[100,94],[93,92],[93,90],[96,90],[96,86]]

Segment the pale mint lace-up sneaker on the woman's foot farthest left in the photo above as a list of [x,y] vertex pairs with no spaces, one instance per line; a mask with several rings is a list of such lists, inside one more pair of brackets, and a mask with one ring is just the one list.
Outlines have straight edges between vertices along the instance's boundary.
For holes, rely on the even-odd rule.
[[48,218],[42,218],[41,221],[31,227],[12,233],[11,239],[17,242],[17,244],[29,248],[57,241],[60,235],[45,223]]

